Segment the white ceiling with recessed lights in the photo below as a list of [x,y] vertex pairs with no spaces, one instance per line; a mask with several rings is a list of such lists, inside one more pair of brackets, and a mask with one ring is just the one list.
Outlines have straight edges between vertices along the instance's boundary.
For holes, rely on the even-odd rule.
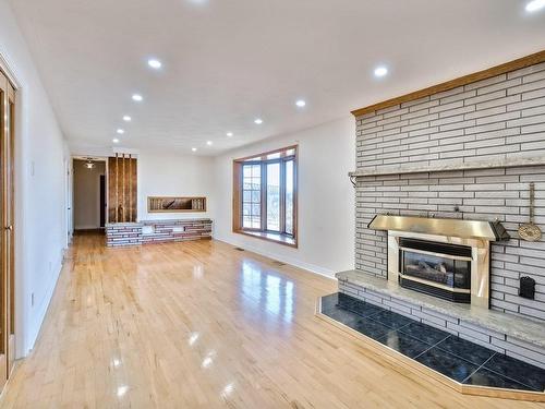
[[122,127],[129,148],[215,155],[545,49],[522,0],[10,2],[80,152]]

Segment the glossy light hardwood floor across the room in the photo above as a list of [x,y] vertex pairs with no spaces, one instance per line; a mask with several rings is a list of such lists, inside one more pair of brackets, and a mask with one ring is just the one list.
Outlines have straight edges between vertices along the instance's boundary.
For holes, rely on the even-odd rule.
[[2,408],[538,408],[384,365],[314,316],[336,282],[217,241],[80,236]]

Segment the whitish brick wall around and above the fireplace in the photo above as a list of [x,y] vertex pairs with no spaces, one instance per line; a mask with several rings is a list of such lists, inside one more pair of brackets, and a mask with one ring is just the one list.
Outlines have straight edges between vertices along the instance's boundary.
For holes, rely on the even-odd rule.
[[[544,165],[509,166],[526,157]],[[386,277],[386,233],[367,229],[377,213],[498,218],[511,240],[493,244],[492,308],[545,320],[545,241],[517,233],[531,181],[545,231],[545,63],[358,117],[356,166],[358,270]],[[518,296],[521,276],[536,280],[535,300]]]

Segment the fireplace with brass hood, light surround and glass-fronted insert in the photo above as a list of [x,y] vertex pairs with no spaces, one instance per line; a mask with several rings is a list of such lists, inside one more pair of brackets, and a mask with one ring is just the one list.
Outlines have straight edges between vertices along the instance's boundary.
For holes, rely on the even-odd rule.
[[388,280],[489,308],[491,242],[509,239],[501,224],[377,215],[368,227],[387,231]]

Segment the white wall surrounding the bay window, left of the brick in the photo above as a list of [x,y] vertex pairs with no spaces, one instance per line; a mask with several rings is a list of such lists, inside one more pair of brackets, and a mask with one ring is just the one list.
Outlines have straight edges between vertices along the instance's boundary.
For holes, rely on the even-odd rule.
[[[214,236],[218,240],[332,276],[354,267],[354,120],[343,118],[244,146],[215,159]],[[233,159],[299,145],[299,248],[232,232]]]

